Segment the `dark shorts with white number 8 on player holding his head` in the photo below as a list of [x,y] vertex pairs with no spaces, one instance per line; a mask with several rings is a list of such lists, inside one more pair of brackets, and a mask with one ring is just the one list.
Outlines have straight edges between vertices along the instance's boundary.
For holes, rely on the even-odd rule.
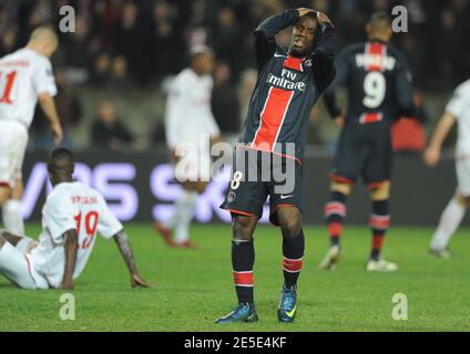
[[268,196],[269,221],[275,226],[279,225],[278,208],[296,207],[302,211],[302,164],[270,153],[237,149],[232,180],[221,208],[259,219]]

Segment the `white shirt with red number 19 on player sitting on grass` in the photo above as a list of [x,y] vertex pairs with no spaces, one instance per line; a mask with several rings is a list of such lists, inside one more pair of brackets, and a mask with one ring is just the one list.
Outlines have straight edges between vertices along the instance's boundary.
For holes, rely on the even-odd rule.
[[71,229],[79,235],[73,272],[73,279],[76,279],[86,266],[96,232],[109,239],[123,227],[104,198],[93,188],[80,181],[57,185],[42,209],[39,244],[29,254],[31,273],[38,288],[58,288],[61,284],[65,267],[63,233]]

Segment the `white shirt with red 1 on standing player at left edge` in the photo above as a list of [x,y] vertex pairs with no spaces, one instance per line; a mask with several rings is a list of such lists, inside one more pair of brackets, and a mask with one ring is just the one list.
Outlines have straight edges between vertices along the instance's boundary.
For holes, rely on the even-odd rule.
[[48,58],[23,48],[0,59],[0,119],[29,127],[41,93],[57,94]]

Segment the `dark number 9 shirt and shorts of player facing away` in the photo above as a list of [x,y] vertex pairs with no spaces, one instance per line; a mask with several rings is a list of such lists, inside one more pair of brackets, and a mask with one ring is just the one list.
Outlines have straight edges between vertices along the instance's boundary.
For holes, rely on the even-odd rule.
[[370,188],[391,178],[391,123],[413,115],[411,75],[405,56],[380,41],[352,44],[336,61],[337,75],[325,92],[331,117],[341,111],[335,93],[345,85],[348,107],[330,179]]

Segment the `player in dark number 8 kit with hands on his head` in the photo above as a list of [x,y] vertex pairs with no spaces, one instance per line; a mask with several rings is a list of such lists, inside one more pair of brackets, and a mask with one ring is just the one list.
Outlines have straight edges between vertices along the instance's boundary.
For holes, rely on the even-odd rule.
[[[286,50],[276,44],[275,35],[290,25],[293,33]],[[232,266],[238,305],[216,323],[258,320],[254,305],[254,232],[268,196],[269,219],[283,236],[284,284],[277,316],[280,322],[295,319],[305,249],[302,160],[311,107],[335,77],[333,34],[334,25],[326,14],[305,8],[268,18],[255,31],[258,79],[235,148],[233,179],[221,206],[232,215]],[[295,150],[289,150],[292,145]],[[277,164],[273,156],[279,157]],[[245,170],[237,169],[244,160],[258,176],[268,169],[268,180],[247,178],[245,166]],[[285,181],[293,180],[293,190],[276,191],[280,183],[273,176],[286,170],[288,163],[292,174]]]

